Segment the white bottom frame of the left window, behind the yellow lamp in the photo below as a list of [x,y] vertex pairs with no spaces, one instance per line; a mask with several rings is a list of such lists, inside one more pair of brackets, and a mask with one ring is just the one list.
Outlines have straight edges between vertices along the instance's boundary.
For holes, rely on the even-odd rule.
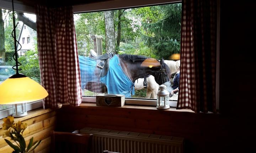
[[[27,103],[27,111],[31,111],[32,109],[43,107],[43,100],[34,101]],[[0,119],[6,118],[7,116],[12,115],[12,107],[2,109],[0,111]]]

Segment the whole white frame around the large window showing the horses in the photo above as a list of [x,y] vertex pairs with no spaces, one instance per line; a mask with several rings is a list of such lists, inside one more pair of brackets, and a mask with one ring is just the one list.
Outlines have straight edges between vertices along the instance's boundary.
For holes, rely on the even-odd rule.
[[[107,10],[117,10],[122,8],[135,8],[135,7],[146,7],[154,5],[166,5],[181,3],[181,0],[148,0],[148,1],[138,1],[138,0],[116,0],[116,1],[104,1],[104,2],[94,2],[85,5],[75,5],[73,6],[74,14],[76,13],[86,13],[86,12],[97,12],[97,11],[107,11]],[[216,55],[216,109],[219,109],[219,38],[220,38],[220,0],[217,0],[217,55]],[[82,102],[96,102],[96,97],[82,97]],[[138,104],[138,105],[150,105],[156,106],[155,99],[133,99],[126,98],[125,104]],[[177,101],[169,101],[170,107],[177,107]]]

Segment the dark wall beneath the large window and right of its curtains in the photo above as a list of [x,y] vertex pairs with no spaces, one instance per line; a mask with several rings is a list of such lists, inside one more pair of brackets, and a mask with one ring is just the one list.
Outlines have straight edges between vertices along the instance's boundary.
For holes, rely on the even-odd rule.
[[[255,152],[255,141],[249,140],[254,140],[256,129],[255,6],[255,2],[221,0],[221,114],[63,107],[57,112],[57,129],[70,131],[88,126],[184,137],[186,152]],[[143,118],[136,120],[140,115]]]

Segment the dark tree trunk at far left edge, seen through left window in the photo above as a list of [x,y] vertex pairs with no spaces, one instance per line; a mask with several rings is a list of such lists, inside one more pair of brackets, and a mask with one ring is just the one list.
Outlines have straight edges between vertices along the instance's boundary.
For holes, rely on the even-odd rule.
[[0,65],[5,65],[5,33],[2,9],[0,9]]

